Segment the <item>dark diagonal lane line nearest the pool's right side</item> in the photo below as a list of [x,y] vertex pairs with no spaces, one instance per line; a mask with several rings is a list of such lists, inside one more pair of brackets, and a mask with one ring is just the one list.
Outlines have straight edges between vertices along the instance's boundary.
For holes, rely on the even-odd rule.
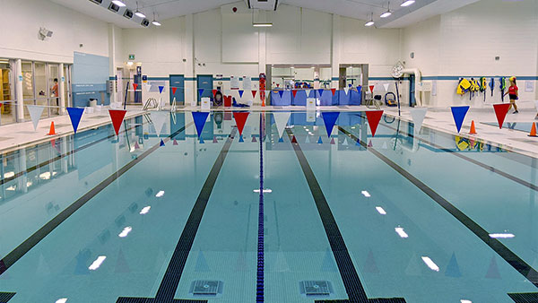
[[[354,142],[358,142],[359,138],[357,138],[354,134],[348,132],[342,126],[338,126],[338,130],[340,130],[343,134],[346,134]],[[430,196],[433,201],[438,203],[441,207],[447,210],[447,212],[452,214],[457,219],[457,221],[460,221],[467,229],[471,230],[474,235],[476,235],[478,238],[481,238],[486,245],[491,247],[491,249],[493,249],[498,255],[500,255],[500,257],[502,257],[506,262],[508,262],[508,264],[510,264],[514,269],[516,269],[518,273],[521,273],[525,277],[525,279],[531,281],[534,286],[538,287],[538,273],[534,270],[534,268],[532,268],[529,264],[526,264],[523,259],[517,256],[508,247],[504,246],[497,238],[490,238],[490,233],[487,230],[482,229],[482,227],[478,225],[478,223],[469,218],[466,214],[464,214],[464,212],[461,212],[452,203],[448,202],[441,195],[438,195],[437,192],[435,192],[426,184],[422,183],[421,180],[419,180],[417,177],[412,176],[412,174],[410,174],[407,170],[401,168],[395,162],[386,158],[386,156],[383,155],[381,152],[377,152],[374,148],[368,147],[367,144],[364,142],[360,142],[360,144],[365,147],[369,152],[373,153],[379,160],[384,161],[389,167],[395,169],[395,171],[402,175],[402,177],[405,177],[407,180],[409,180],[414,186],[421,189],[424,194]]]

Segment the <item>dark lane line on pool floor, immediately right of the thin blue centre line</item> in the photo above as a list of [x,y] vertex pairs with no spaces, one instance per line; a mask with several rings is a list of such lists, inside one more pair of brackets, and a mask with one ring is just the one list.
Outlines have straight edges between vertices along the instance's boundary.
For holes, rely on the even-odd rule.
[[[290,142],[293,140],[293,132],[291,129],[286,129],[286,133],[290,138]],[[300,168],[307,179],[308,187],[314,198],[314,202],[317,206],[317,212],[319,212],[319,217],[323,223],[329,245],[333,251],[334,260],[338,266],[338,271],[342,277],[343,286],[348,295],[348,299],[342,300],[318,300],[317,302],[352,302],[352,303],[389,303],[389,302],[405,302],[403,298],[392,298],[392,299],[368,299],[366,291],[360,282],[359,274],[351,260],[351,255],[345,245],[345,242],[342,237],[342,233],[338,228],[338,224],[334,219],[333,212],[329,207],[325,199],[325,195],[317,182],[317,178],[314,175],[314,171],[310,168],[308,164],[307,157],[304,152],[300,149],[299,143],[291,143],[297,160],[299,160]]]

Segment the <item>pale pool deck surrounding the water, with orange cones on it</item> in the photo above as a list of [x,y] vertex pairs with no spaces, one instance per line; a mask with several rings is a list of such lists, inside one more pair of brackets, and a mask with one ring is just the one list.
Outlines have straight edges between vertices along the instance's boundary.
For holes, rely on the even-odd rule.
[[[198,107],[178,107],[178,111],[195,111]],[[213,109],[231,109],[231,108],[213,108]],[[272,111],[272,110],[305,110],[306,107],[261,107],[253,106],[252,108],[233,108],[233,110],[253,110],[253,111]],[[385,110],[387,115],[397,117],[397,108],[381,108]],[[365,106],[329,106],[317,107],[317,110],[330,111],[364,111],[369,110]],[[128,106],[127,117],[135,117],[143,113],[139,106]],[[412,120],[409,113],[409,108],[401,109],[403,120]],[[505,122],[508,123],[531,123],[538,122],[534,120],[536,112],[534,109],[521,109],[519,114],[508,113]],[[474,120],[476,131],[478,134],[469,134],[471,121]],[[50,122],[54,121],[56,126],[56,135],[47,135],[50,127]],[[110,123],[108,117],[108,108],[103,108],[100,111],[95,111],[92,114],[84,113],[78,131],[83,131],[93,127],[103,126]],[[485,123],[497,123],[497,118],[492,108],[471,108],[464,119],[460,135],[473,138],[475,140],[484,140],[490,143],[501,145],[504,149],[514,152],[521,152],[526,155],[538,158],[538,137],[529,137],[528,132],[523,132],[514,129],[503,128],[497,126],[489,126]],[[423,126],[443,131],[448,134],[457,134],[456,126],[450,108],[429,108],[428,113],[423,122]],[[530,129],[528,130],[530,132]],[[44,142],[54,139],[58,136],[73,134],[73,127],[68,115],[59,117],[49,117],[39,120],[37,131],[34,131],[31,121],[18,123],[8,126],[0,126],[0,151],[11,152],[24,146]]]

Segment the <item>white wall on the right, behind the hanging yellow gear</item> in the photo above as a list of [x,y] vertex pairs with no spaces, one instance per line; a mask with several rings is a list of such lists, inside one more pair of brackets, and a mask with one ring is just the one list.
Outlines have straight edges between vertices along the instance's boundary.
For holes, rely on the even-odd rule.
[[[490,107],[500,102],[499,76],[536,76],[538,74],[538,1],[508,2],[482,0],[450,13],[431,18],[403,30],[402,60],[407,67],[418,67],[424,76],[495,76],[495,91],[456,95],[456,80],[438,80],[438,95],[425,99],[434,107],[471,105]],[[409,54],[414,52],[414,58]],[[495,56],[500,56],[496,61]],[[538,99],[534,91],[525,92],[519,81],[518,106],[533,108]],[[505,97],[508,101],[508,97]]]

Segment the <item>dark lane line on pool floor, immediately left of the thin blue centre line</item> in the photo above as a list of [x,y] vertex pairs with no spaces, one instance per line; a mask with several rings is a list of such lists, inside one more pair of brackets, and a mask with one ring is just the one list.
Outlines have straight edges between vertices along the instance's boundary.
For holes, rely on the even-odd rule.
[[207,302],[207,300],[196,300],[196,299],[174,299],[174,295],[178,290],[179,281],[181,280],[181,275],[185,269],[185,264],[187,264],[187,257],[193,247],[195,242],[196,233],[200,227],[202,217],[204,216],[205,207],[209,202],[211,193],[213,192],[213,187],[219,177],[221,172],[222,164],[226,160],[228,152],[230,152],[231,143],[235,134],[237,133],[237,128],[234,128],[231,131],[230,136],[222,146],[222,150],[217,156],[213,168],[209,172],[209,175],[205,179],[204,186],[200,191],[200,195],[196,198],[195,205],[193,206],[190,215],[188,216],[187,223],[181,232],[181,237],[179,237],[178,244],[174,250],[169,265],[162,277],[161,285],[155,298],[133,298],[133,297],[119,297],[117,303],[181,303],[181,302]]

